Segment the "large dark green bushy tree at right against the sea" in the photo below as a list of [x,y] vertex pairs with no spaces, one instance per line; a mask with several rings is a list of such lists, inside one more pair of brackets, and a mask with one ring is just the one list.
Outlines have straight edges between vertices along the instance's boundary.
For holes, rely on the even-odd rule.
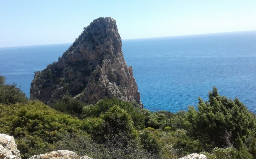
[[244,141],[239,137],[247,138],[255,133],[255,115],[238,98],[228,100],[220,96],[216,87],[208,97],[208,102],[199,98],[198,111],[189,108],[187,119],[192,125],[191,134],[216,147],[242,146]]

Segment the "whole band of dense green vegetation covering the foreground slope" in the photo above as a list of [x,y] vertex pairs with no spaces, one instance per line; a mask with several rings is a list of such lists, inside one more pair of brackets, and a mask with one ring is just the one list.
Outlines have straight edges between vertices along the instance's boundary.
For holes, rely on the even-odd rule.
[[217,88],[198,109],[150,112],[118,99],[86,105],[64,97],[50,107],[29,101],[0,77],[0,133],[12,135],[23,158],[68,149],[92,158],[256,158],[256,117]]

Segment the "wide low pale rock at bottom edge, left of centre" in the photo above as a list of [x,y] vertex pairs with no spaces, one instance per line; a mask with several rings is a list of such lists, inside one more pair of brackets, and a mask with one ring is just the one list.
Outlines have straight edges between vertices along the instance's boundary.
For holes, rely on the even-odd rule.
[[42,155],[34,155],[30,157],[29,159],[92,159],[88,156],[78,156],[73,151],[68,150],[58,150],[58,151],[52,151],[48,152]]

